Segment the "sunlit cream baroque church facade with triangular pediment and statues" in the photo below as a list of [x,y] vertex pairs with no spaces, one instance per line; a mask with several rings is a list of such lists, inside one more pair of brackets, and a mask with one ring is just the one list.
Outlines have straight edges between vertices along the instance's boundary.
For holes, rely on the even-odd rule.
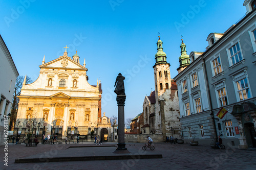
[[[110,136],[111,123],[101,116],[101,83],[88,83],[85,59],[80,64],[77,52],[68,57],[67,46],[63,56],[45,62],[40,67],[38,79],[24,84],[19,97],[15,128],[44,127],[45,134],[51,134],[52,125],[63,137],[77,129],[80,135]],[[19,124],[20,122],[20,124]],[[101,127],[101,128],[100,128]],[[68,131],[69,130],[69,131]]]

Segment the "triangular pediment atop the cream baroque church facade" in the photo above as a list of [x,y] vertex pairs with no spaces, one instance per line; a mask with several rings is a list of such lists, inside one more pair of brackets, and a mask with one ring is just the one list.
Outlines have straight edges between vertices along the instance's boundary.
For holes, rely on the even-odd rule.
[[48,63],[42,64],[39,66],[42,67],[51,67],[51,68],[72,68],[72,69],[86,69],[82,65],[76,63],[75,61],[71,60],[70,57],[62,56],[60,58],[57,58],[53,61],[50,61]]

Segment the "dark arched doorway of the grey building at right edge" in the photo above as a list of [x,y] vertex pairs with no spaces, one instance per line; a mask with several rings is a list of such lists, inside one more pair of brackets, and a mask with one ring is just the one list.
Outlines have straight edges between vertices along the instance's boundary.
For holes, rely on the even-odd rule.
[[244,124],[244,133],[249,148],[256,147],[256,132],[252,123]]

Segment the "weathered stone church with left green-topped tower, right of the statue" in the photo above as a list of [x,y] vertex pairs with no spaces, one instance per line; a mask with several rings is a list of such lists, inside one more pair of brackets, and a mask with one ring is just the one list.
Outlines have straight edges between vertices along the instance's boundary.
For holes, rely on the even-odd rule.
[[143,112],[133,119],[131,132],[162,134],[164,139],[170,135],[179,137],[180,112],[177,85],[170,78],[170,64],[166,61],[160,36],[157,47],[156,63],[153,66],[155,91],[151,91],[150,96],[145,96]]

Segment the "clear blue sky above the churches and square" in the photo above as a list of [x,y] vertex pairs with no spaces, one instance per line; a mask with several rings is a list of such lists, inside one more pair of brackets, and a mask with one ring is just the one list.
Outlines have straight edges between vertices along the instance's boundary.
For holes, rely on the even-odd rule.
[[154,90],[158,32],[174,78],[179,67],[181,35],[191,51],[205,51],[211,32],[224,33],[246,12],[239,1],[3,1],[2,35],[19,75],[35,81],[39,65],[77,49],[86,59],[89,83],[102,83],[102,115],[117,116],[113,92],[119,72],[125,79],[125,118],[142,112],[145,95]]

